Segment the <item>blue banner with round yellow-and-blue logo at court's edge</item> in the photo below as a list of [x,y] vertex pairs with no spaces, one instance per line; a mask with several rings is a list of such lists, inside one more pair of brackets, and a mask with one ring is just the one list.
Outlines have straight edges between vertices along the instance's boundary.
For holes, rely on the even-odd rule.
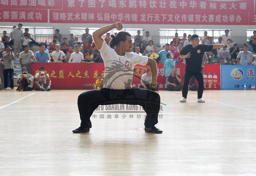
[[220,88],[221,89],[251,89],[255,81],[255,65],[221,65]]

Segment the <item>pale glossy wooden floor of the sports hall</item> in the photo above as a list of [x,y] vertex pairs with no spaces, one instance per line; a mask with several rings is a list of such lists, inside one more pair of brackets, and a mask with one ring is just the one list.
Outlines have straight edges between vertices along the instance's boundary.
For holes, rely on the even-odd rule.
[[256,91],[205,91],[206,103],[160,91],[162,134],[143,131],[143,113],[99,111],[74,134],[81,92],[0,91],[1,176],[256,175]]

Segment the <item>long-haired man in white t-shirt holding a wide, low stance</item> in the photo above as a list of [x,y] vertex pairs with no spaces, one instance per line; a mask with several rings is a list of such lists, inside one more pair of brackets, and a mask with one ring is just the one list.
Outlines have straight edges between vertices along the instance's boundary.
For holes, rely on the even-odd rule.
[[[156,90],[157,87],[156,61],[146,56],[130,52],[132,48],[132,36],[124,31],[112,37],[108,46],[101,37],[114,28],[121,30],[123,28],[122,22],[104,26],[93,32],[95,45],[104,60],[103,88],[86,91],[78,96],[77,104],[81,124],[73,132],[90,131],[92,127],[90,117],[99,105],[132,103],[142,106],[147,113],[144,123],[145,132],[162,133],[163,131],[155,127],[155,124],[158,122],[160,96],[157,92],[152,91]],[[133,69],[137,64],[150,66],[152,80],[149,84],[149,89],[132,87]]]

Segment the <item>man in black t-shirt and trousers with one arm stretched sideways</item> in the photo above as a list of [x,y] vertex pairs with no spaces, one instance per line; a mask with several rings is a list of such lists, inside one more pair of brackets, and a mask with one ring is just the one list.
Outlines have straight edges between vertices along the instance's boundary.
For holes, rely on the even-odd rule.
[[180,58],[186,59],[186,70],[184,74],[184,83],[182,88],[182,99],[180,100],[180,102],[187,101],[189,80],[192,76],[195,76],[198,82],[197,102],[204,103],[205,101],[202,99],[204,91],[204,78],[201,72],[204,52],[210,52],[212,51],[212,49],[221,48],[223,46],[226,46],[229,42],[226,42],[225,44],[213,44],[208,46],[205,44],[199,44],[199,38],[197,35],[191,36],[191,42],[192,44],[185,46],[180,52]]

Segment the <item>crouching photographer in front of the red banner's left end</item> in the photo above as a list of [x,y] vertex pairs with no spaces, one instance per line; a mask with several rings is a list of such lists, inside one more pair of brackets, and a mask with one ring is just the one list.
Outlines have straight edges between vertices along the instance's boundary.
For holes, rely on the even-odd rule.
[[35,78],[36,91],[51,90],[52,81],[49,75],[45,72],[44,67],[39,68],[39,73],[35,75]]

